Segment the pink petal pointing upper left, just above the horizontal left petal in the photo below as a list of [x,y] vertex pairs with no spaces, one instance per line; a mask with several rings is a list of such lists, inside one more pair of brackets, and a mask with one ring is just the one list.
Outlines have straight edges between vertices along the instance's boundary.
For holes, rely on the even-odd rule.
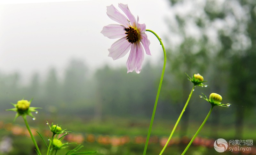
[[121,12],[119,12],[113,4],[107,6],[107,15],[110,19],[120,23],[125,27],[130,26],[129,20]]

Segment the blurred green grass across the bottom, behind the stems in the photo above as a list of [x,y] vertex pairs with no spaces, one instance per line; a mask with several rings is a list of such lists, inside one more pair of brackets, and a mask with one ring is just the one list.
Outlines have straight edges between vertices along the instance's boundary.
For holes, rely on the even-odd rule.
[[[5,126],[6,124],[10,125],[20,125],[21,127],[25,127],[25,125],[22,122],[21,118],[18,118],[14,123],[12,123],[12,119],[14,117],[14,114],[8,114],[7,116],[1,116],[1,118],[4,118],[3,128],[0,128],[0,139],[4,136],[10,136],[13,139],[13,151],[10,152],[8,155],[17,155],[17,154],[29,154],[31,151],[33,151],[33,143],[29,137],[26,136],[14,136],[12,135],[11,131],[6,130]],[[37,120],[33,121],[32,119],[29,121],[30,126],[33,128],[36,128],[37,131],[40,133],[44,133],[45,130],[48,130],[49,127],[46,125],[46,120],[51,123],[52,121],[56,124],[61,125],[63,129],[67,128],[68,131],[72,131],[71,134],[82,134],[84,136],[88,134],[93,134],[95,137],[97,136],[129,136],[131,138],[130,143],[125,143],[123,145],[119,146],[113,146],[110,144],[101,144],[97,142],[89,143],[86,140],[82,145],[84,145],[84,148],[82,151],[99,151],[97,155],[139,155],[142,154],[144,149],[143,143],[134,143],[134,138],[136,136],[147,136],[147,130],[149,125],[148,119],[137,119],[137,118],[121,118],[121,117],[105,117],[104,120],[101,122],[94,121],[93,119],[84,118],[84,116],[75,117],[72,116],[58,116],[55,118],[52,118],[51,120],[48,119],[47,115],[40,114],[36,116]],[[201,122],[189,122],[187,135],[188,138],[191,138],[198,127],[200,126]],[[168,137],[172,127],[174,125],[174,121],[170,120],[163,120],[163,119],[156,119],[152,128],[152,136],[156,136],[159,139],[163,137]],[[217,138],[224,138],[227,141],[234,139],[235,137],[235,128],[233,125],[225,125],[220,124],[217,128],[217,136],[212,137],[212,124],[207,123],[205,124],[202,131],[199,133],[200,137],[204,137],[207,139],[217,139]],[[180,133],[180,128],[178,126],[177,130],[174,133],[173,138],[178,138]],[[49,135],[50,136],[50,135]],[[38,142],[41,142],[40,145],[42,148],[44,147],[44,144],[42,143],[42,140],[40,140],[39,136],[36,136],[36,139]],[[45,140],[47,137],[45,137]],[[256,132],[255,132],[255,126],[244,126],[244,133],[243,137],[241,137],[241,140],[244,139],[253,139],[256,140]],[[213,144],[212,144],[213,145]],[[75,147],[77,145],[70,145],[69,147]],[[186,144],[174,144],[168,147],[165,150],[164,154],[181,154],[181,152],[185,149]],[[25,148],[25,149],[20,149]],[[45,148],[46,150],[46,148]],[[45,150],[42,150],[42,153],[45,152]],[[69,149],[60,151],[60,154],[65,154]],[[148,146],[148,155],[155,155],[159,154],[159,152],[162,150],[162,146],[160,143],[150,143]],[[5,153],[4,153],[5,154]],[[44,153],[43,153],[44,154]],[[203,154],[209,154],[209,155],[217,155],[218,152],[216,152],[213,148],[207,148],[204,146],[191,146],[187,152],[187,154],[195,154],[195,155],[203,155]],[[230,152],[222,153],[223,155],[229,155]],[[0,153],[0,155],[2,155]]]

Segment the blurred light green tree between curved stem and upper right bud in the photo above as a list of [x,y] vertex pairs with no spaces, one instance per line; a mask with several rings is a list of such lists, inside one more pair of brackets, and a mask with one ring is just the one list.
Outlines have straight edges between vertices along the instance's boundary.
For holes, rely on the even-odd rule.
[[[163,85],[165,98],[170,103],[177,103],[180,112],[193,86],[188,81],[185,73],[189,76],[199,73],[206,78],[207,73],[205,70],[209,67],[209,53],[213,49],[209,46],[211,43],[207,35],[204,34],[204,27],[201,26],[202,21],[205,20],[204,16],[198,15],[199,12],[202,12],[203,7],[200,8],[192,1],[191,4],[186,2],[171,3],[173,19],[170,19],[168,23],[170,23],[170,36],[175,36],[175,38],[168,36],[168,43],[170,44],[167,48],[167,70]],[[184,12],[180,12],[179,8],[188,5],[193,9],[186,9]],[[178,42],[174,39],[177,39]],[[188,105],[180,122],[180,136],[187,135],[190,105]]]

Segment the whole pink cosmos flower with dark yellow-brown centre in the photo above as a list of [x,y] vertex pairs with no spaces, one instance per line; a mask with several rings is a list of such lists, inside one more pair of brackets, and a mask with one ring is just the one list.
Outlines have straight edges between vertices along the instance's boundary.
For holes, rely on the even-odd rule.
[[[110,39],[121,38],[113,43],[108,49],[108,56],[113,58],[113,60],[124,57],[131,49],[128,60],[126,62],[126,67],[128,69],[127,73],[133,70],[136,73],[140,73],[141,64],[144,60],[144,50],[146,54],[150,54],[149,50],[149,40],[148,36],[145,34],[146,25],[139,23],[139,17],[137,21],[135,17],[130,12],[128,5],[118,4],[119,8],[125,13],[128,19],[119,12],[113,4],[107,6],[107,15],[110,19],[115,20],[119,24],[109,24],[103,27],[102,33],[104,36]],[[143,47],[142,47],[143,46]]]

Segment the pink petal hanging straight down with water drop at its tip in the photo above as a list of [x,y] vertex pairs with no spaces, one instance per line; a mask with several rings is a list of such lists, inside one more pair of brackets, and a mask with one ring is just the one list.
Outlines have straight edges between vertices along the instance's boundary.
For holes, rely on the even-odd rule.
[[132,72],[135,69],[136,73],[139,74],[143,60],[144,60],[144,51],[141,44],[133,43],[131,52],[126,62],[126,67],[128,69],[127,73]]

